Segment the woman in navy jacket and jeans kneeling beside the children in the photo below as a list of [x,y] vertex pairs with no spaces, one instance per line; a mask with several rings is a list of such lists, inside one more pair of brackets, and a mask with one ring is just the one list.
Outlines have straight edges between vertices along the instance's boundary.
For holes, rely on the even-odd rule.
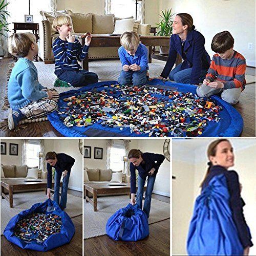
[[[203,82],[210,67],[210,56],[204,48],[204,36],[195,30],[193,18],[187,13],[177,14],[172,27],[169,56],[159,79],[169,76],[170,80],[179,83]],[[172,70],[177,53],[184,61]]]

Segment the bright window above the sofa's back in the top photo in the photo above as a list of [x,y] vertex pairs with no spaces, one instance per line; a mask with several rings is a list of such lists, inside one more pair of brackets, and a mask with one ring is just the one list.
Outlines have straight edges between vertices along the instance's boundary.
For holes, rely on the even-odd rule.
[[118,18],[134,16],[135,2],[133,0],[111,0],[111,13]]

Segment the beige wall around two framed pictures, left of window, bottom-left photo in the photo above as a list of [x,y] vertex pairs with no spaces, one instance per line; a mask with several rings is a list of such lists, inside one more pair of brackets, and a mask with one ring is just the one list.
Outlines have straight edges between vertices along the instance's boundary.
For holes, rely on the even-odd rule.
[[[1,155],[1,164],[4,165],[22,165],[22,140],[1,139],[1,142],[6,143],[6,155]],[[10,143],[18,144],[18,155],[10,156]]]

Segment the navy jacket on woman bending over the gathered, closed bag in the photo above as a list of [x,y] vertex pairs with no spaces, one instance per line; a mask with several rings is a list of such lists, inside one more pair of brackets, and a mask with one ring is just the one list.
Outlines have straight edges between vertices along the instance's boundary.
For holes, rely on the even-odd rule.
[[[154,154],[154,153],[142,153],[141,157],[145,162],[145,168],[142,167],[142,163],[139,166],[133,165],[130,163],[130,173],[131,173],[131,193],[136,193],[136,174],[135,169],[139,171],[139,176],[142,179],[145,179],[147,176],[155,177],[157,175],[158,169],[164,160],[164,156],[161,154]],[[155,168],[155,172],[153,175],[148,175],[148,172],[152,168]]]

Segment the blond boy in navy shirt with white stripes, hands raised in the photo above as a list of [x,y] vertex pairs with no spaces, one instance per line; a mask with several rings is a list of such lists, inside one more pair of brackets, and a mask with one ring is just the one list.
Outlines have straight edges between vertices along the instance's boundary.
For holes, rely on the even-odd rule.
[[53,43],[53,53],[55,58],[55,75],[58,79],[54,85],[69,83],[73,87],[87,86],[90,83],[98,82],[98,76],[87,70],[82,70],[77,60],[86,58],[91,43],[92,36],[86,36],[82,47],[78,39],[71,35],[72,21],[67,15],[55,17],[52,24],[53,29],[59,33],[59,37]]

